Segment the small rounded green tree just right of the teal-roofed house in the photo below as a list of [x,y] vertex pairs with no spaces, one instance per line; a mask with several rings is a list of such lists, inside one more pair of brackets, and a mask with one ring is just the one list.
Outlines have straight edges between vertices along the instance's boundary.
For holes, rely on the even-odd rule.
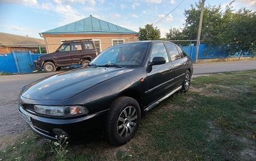
[[159,40],[161,37],[160,29],[153,27],[153,24],[145,25],[145,28],[140,27],[139,40]]

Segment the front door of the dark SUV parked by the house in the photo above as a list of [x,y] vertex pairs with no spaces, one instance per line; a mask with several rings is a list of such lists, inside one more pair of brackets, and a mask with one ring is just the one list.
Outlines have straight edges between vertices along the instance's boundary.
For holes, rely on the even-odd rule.
[[71,57],[70,57],[70,43],[65,43],[60,46],[60,48],[56,52],[56,61],[60,66],[70,65]]

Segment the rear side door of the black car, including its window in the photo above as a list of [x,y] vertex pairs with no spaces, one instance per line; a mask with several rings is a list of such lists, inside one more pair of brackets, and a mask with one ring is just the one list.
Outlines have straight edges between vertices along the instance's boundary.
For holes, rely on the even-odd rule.
[[182,82],[184,81],[185,72],[187,70],[189,59],[188,57],[184,56],[181,52],[179,52],[177,45],[175,45],[174,43],[165,42],[165,45],[173,64],[176,88],[177,86],[180,86],[180,84],[182,84]]

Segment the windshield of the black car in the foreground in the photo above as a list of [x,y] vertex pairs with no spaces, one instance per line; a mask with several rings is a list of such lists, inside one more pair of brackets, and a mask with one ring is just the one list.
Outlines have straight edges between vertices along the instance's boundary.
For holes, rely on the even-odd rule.
[[93,61],[97,66],[141,66],[145,59],[148,43],[127,43],[104,50]]

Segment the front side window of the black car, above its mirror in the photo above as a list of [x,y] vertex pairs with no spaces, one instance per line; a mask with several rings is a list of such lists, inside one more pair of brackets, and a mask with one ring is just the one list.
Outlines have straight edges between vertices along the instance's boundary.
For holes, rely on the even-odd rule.
[[150,55],[150,62],[152,62],[154,57],[164,57],[166,60],[166,63],[169,62],[169,57],[166,52],[166,49],[164,47],[163,43],[154,43],[152,46],[151,50],[151,55]]

